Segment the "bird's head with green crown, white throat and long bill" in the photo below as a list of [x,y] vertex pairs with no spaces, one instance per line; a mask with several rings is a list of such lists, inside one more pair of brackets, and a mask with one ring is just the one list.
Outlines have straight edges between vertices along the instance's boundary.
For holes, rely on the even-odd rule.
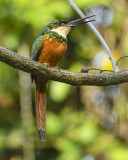
[[[88,23],[94,21],[94,19],[89,20],[90,17],[80,18],[74,21],[67,22],[65,20],[54,20],[50,22],[44,29],[43,32],[57,32],[59,35],[63,36],[64,38],[67,37],[67,34],[70,32],[72,27],[78,26],[80,24]],[[86,20],[85,20],[86,19]]]

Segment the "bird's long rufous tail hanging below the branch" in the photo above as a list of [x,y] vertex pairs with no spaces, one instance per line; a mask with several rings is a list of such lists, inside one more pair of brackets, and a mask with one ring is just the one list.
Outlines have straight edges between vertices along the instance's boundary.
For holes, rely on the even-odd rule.
[[36,116],[39,139],[46,140],[46,79],[36,77]]

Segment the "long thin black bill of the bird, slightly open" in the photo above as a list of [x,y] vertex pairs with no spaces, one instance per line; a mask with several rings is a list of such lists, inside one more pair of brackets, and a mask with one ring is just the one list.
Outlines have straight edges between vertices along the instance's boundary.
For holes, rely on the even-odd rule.
[[[84,17],[84,18],[80,18],[74,21],[71,21],[69,23],[66,24],[67,27],[74,27],[74,26],[78,26],[80,24],[84,24],[84,23],[88,23],[88,22],[92,22],[95,21],[95,19],[90,19],[92,17],[95,17],[95,15],[89,16],[89,17]],[[90,19],[90,20],[89,20]],[[85,21],[84,21],[85,20]]]

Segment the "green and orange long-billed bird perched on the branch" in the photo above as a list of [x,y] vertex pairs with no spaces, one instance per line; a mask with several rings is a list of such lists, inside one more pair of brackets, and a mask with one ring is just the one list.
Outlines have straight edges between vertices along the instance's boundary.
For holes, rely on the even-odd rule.
[[[57,67],[67,50],[67,35],[70,30],[80,24],[94,21],[93,17],[84,17],[74,21],[53,20],[47,24],[31,50],[31,59],[45,63],[50,67]],[[40,75],[31,75],[36,83],[36,119],[39,139],[46,141],[46,83],[47,79]]]

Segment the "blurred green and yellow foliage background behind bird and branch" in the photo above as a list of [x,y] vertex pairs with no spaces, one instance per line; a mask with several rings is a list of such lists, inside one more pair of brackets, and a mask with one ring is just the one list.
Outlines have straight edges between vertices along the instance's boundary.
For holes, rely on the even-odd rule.
[[[111,26],[98,27],[116,60],[128,54],[128,0],[76,0],[83,11],[92,5],[112,7]],[[68,0],[0,0],[0,45],[30,57],[33,41],[54,19],[79,18]],[[127,59],[119,63],[128,69]],[[59,66],[112,69],[108,56],[84,25],[68,35]],[[93,71],[94,72],[94,71]],[[30,75],[0,62],[1,160],[127,160],[128,84],[75,87],[47,84],[47,141],[38,140],[35,85]]]

